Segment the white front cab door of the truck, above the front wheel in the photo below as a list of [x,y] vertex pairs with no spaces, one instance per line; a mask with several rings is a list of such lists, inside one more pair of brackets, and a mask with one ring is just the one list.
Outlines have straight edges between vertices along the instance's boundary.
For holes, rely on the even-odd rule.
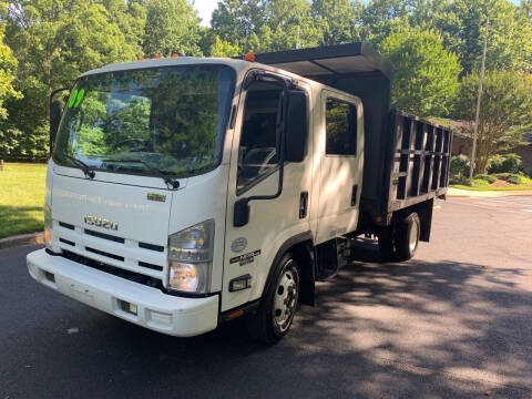
[[[234,205],[238,200],[277,193],[283,90],[279,82],[256,81],[241,94],[227,191],[222,311],[257,299],[280,245],[309,229],[308,215],[300,217],[299,213],[301,193],[308,193],[311,184],[311,167],[305,167],[305,162],[285,163],[280,195],[250,201],[248,223],[234,225]],[[250,278],[249,288],[229,289],[232,282],[244,276]]]

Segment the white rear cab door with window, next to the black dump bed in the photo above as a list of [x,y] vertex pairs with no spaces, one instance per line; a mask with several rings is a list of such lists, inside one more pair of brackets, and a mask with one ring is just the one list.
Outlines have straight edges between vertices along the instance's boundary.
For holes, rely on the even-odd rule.
[[364,165],[361,101],[324,90],[320,124],[317,244],[357,228]]

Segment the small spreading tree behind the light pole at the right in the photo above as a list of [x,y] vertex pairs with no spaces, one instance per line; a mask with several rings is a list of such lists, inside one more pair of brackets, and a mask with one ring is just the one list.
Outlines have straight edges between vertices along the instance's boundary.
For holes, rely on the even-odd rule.
[[[463,76],[456,116],[466,121],[472,135],[477,110],[479,74]],[[475,173],[485,173],[488,161],[498,151],[519,144],[532,129],[532,76],[512,71],[487,71],[480,109]]]

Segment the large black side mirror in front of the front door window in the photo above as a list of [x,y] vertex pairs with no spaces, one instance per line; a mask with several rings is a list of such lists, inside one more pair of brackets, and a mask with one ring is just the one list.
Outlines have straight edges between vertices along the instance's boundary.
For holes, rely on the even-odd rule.
[[308,95],[301,90],[286,91],[284,120],[285,161],[303,162],[307,155]]

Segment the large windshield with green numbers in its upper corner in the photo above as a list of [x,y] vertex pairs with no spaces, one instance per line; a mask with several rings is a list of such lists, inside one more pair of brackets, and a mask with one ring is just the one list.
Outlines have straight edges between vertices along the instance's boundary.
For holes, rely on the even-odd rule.
[[225,65],[120,71],[78,80],[53,160],[187,177],[221,162],[234,72]]

